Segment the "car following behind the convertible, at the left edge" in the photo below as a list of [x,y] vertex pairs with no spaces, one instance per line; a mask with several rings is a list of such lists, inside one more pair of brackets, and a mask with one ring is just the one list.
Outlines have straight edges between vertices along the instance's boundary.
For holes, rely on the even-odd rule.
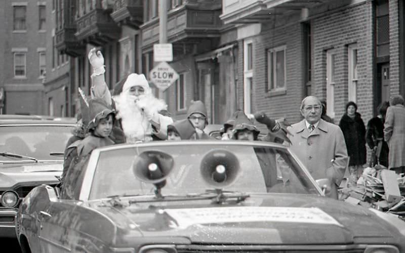
[[37,185],[55,185],[72,120],[0,120],[0,237],[15,237],[21,199]]

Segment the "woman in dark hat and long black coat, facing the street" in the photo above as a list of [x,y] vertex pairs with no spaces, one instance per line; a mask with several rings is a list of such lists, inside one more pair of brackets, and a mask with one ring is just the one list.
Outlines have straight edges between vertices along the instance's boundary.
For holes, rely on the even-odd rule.
[[356,103],[346,104],[346,113],[339,122],[346,142],[349,160],[349,172],[355,176],[362,174],[362,165],[366,163],[366,127],[357,112]]

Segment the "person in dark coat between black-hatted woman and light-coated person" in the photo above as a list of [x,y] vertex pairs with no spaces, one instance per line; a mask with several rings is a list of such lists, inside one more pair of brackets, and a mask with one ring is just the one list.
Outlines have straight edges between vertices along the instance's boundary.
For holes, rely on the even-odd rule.
[[384,141],[384,122],[388,106],[388,101],[382,102],[377,107],[379,114],[367,123],[366,141],[369,148],[373,150],[371,166],[375,166],[379,162],[388,168],[388,144]]

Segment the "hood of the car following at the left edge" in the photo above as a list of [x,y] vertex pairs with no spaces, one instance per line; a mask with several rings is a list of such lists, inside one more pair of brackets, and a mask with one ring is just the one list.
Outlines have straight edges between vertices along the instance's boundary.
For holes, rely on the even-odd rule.
[[63,161],[16,163],[0,165],[0,188],[13,187],[16,184],[40,182],[57,183],[55,176],[62,175]]

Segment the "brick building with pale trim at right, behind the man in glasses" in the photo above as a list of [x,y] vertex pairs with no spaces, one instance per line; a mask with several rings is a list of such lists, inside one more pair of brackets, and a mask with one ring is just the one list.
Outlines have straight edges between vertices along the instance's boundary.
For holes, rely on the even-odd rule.
[[225,0],[237,30],[237,98],[245,111],[301,119],[302,98],[327,101],[338,123],[355,101],[367,121],[405,93],[403,1]]

